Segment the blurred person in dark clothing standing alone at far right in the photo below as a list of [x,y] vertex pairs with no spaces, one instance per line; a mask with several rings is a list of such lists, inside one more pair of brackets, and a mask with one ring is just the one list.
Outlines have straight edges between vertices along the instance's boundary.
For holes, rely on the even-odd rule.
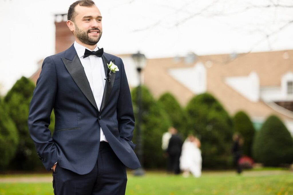
[[243,139],[241,134],[238,132],[234,133],[232,153],[233,153],[233,159],[234,159],[234,166],[236,167],[236,171],[238,174],[242,172],[242,168],[239,162],[239,159],[242,156],[242,145],[243,145]]

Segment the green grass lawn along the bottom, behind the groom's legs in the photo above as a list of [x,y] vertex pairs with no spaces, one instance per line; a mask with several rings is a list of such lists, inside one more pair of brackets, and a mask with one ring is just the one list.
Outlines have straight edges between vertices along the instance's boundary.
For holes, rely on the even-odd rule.
[[[52,195],[52,182],[30,182],[23,178],[47,179],[50,175],[5,175],[0,176],[1,195]],[[18,178],[22,178],[18,181]],[[5,181],[11,179],[11,181]],[[15,181],[13,181],[15,180]],[[25,183],[26,182],[26,183]],[[234,172],[203,172],[200,178],[183,178],[160,172],[147,172],[144,177],[128,173],[128,195],[293,195],[293,172],[289,170],[246,171],[243,175]]]

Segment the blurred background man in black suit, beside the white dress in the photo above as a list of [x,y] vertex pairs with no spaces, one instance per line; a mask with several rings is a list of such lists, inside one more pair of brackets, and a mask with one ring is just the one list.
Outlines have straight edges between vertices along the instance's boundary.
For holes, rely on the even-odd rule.
[[170,166],[172,172],[175,174],[180,173],[180,168],[179,168],[179,158],[181,155],[181,149],[182,149],[182,139],[178,135],[177,130],[174,127],[169,128],[169,132],[172,134],[168,148],[167,148],[167,153],[168,153],[168,158],[170,160]]

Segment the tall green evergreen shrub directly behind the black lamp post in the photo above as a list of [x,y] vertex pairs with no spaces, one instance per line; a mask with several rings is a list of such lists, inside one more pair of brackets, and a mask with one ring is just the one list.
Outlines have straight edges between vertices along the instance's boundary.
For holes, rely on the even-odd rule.
[[[137,92],[138,87],[132,89],[132,104],[135,116],[135,129],[133,142],[137,144]],[[142,145],[143,145],[143,165],[145,168],[161,168],[166,163],[163,158],[161,139],[164,132],[171,125],[168,115],[161,105],[156,102],[146,87],[142,87]],[[137,149],[137,147],[136,147]]]

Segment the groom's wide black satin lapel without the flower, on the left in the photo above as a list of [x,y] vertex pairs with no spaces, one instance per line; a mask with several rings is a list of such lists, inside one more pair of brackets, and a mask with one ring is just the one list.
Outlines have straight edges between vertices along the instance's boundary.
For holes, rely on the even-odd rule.
[[93,92],[91,90],[91,86],[88,82],[88,79],[86,77],[86,73],[84,72],[84,67],[82,66],[79,57],[77,54],[74,56],[73,60],[67,60],[66,58],[61,58],[67,71],[71,75],[72,79],[76,83],[76,85],[79,87],[81,92],[86,96],[88,101],[93,104],[93,106],[98,109],[98,106],[96,104],[95,98],[93,96]]

